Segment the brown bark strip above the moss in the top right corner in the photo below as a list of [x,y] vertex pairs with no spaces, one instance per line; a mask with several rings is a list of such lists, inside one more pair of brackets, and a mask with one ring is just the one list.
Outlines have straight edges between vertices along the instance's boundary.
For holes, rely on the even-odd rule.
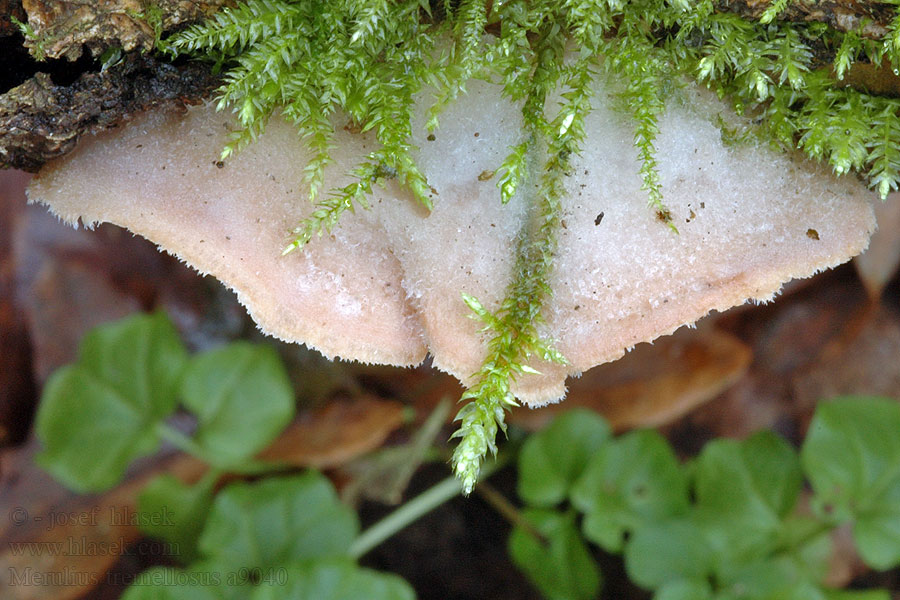
[[[718,0],[719,10],[748,19],[759,19],[772,0]],[[855,0],[791,0],[778,18],[785,21],[821,21],[840,31],[859,31],[872,38],[884,37],[896,6]]]

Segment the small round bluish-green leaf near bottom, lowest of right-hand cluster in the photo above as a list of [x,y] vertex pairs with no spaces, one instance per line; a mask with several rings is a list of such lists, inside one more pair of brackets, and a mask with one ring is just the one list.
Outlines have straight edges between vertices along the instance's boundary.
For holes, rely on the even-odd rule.
[[704,581],[712,573],[713,562],[713,550],[703,532],[684,518],[639,527],[625,545],[629,579],[649,589]]

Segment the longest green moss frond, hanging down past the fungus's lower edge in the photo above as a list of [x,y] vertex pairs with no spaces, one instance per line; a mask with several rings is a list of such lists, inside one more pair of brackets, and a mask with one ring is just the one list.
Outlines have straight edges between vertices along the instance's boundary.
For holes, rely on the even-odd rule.
[[[558,15],[547,16],[558,18]],[[495,312],[489,312],[476,298],[463,296],[489,335],[487,357],[474,374],[475,383],[461,398],[467,404],[456,416],[460,428],[453,434],[460,439],[453,453],[453,469],[466,494],[471,493],[478,481],[488,452],[497,453],[497,432],[506,431],[506,410],[516,405],[513,382],[519,375],[537,373],[528,366],[528,361],[537,356],[545,361],[566,363],[565,357],[539,334],[538,328],[543,323],[544,303],[551,295],[549,278],[556,252],[563,177],[568,171],[569,157],[580,149],[579,143],[584,138],[584,117],[590,110],[590,64],[596,57],[581,62],[573,70],[569,83],[574,85],[564,93],[556,117],[548,122],[544,116],[547,95],[561,82],[564,71],[556,59],[563,50],[564,38],[554,33],[558,31],[555,24],[555,20],[548,19],[545,35],[538,38],[535,47],[538,62],[522,109],[528,139],[513,149],[514,159],[507,160],[507,171],[500,182],[504,199],[512,199],[509,192],[524,179],[524,165],[539,148],[546,147],[537,191],[533,196],[519,194],[518,199],[529,204],[531,214],[519,236],[512,281]]]

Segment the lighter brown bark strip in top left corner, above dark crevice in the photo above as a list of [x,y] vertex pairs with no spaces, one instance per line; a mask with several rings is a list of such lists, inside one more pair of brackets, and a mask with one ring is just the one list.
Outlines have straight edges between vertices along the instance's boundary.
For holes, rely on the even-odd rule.
[[26,46],[38,58],[75,60],[82,47],[99,56],[107,48],[153,48],[159,31],[213,14],[225,0],[24,0],[34,36]]

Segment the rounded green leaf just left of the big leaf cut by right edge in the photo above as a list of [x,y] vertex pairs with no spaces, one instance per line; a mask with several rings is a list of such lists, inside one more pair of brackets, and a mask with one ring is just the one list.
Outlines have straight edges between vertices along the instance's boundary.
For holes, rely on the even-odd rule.
[[694,477],[698,519],[719,556],[732,560],[761,558],[778,544],[803,485],[796,452],[771,432],[707,444]]

